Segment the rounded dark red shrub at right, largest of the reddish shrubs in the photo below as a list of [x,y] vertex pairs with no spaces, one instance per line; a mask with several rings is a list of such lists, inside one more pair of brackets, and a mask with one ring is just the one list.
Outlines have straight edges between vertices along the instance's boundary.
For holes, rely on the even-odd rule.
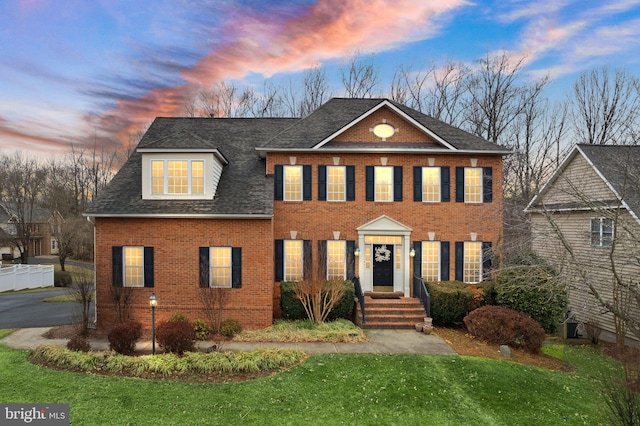
[[545,339],[540,324],[523,313],[502,306],[482,306],[464,317],[473,336],[496,345],[538,353]]

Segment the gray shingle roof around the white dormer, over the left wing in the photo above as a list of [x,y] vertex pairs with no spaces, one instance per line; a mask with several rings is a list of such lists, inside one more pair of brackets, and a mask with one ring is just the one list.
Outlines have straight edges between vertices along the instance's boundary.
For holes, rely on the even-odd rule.
[[87,210],[110,215],[271,215],[273,178],[256,145],[294,119],[156,118],[138,148],[219,150],[229,161],[214,200],[143,200],[142,154],[135,152]]

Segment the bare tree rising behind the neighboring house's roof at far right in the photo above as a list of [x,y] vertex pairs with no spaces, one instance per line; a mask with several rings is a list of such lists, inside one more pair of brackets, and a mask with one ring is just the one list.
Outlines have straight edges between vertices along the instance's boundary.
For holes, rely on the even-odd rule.
[[638,78],[608,67],[580,75],[570,97],[578,143],[636,144],[640,94]]

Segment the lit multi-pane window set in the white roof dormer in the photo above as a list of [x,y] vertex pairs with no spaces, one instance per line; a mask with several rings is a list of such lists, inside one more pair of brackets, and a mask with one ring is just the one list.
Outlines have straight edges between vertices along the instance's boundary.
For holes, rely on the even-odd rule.
[[152,160],[152,194],[204,194],[204,161]]

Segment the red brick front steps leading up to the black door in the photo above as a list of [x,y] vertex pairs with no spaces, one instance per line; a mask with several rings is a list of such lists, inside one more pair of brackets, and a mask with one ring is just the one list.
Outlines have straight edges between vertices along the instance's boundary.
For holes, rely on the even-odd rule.
[[[365,293],[365,320],[362,328],[414,328],[427,316],[419,299],[402,297],[394,293]],[[360,306],[357,307],[358,322],[362,322]]]

